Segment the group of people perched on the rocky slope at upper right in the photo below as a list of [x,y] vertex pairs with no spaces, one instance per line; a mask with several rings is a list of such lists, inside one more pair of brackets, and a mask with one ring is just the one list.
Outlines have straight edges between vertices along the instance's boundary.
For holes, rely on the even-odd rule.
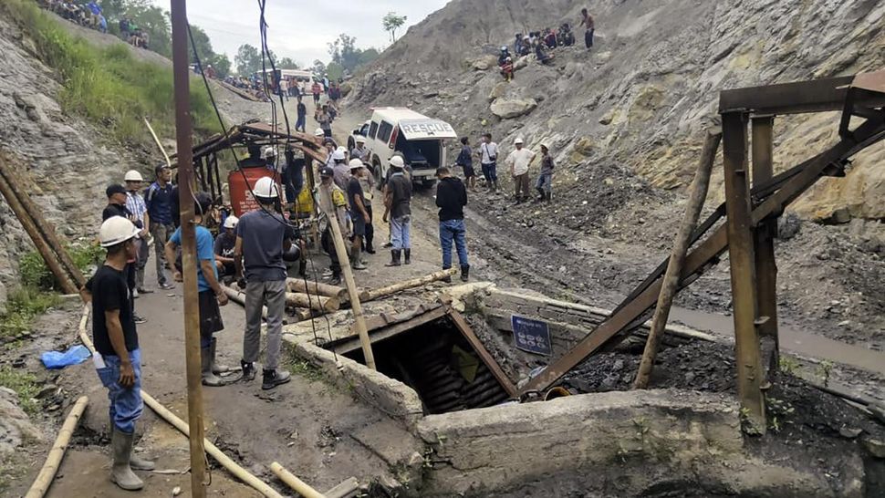
[[[587,8],[581,9],[581,19],[578,27],[584,28],[584,45],[588,49],[593,47],[593,35],[596,24],[593,16],[590,16]],[[575,34],[568,23],[562,23],[558,29],[546,27],[538,31],[529,31],[527,35],[516,33],[513,44],[513,52],[510,47],[502,46],[498,54],[498,68],[501,76],[510,81],[514,78],[515,59],[535,54],[536,60],[541,64],[549,64],[554,55],[551,50],[557,47],[571,47],[575,45]]]

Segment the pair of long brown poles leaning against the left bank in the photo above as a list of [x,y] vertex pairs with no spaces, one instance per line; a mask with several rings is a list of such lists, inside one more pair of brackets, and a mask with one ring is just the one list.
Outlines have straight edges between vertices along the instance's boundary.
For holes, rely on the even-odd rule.
[[36,203],[27,195],[23,183],[4,155],[0,154],[0,193],[3,193],[13,213],[16,213],[37,252],[43,256],[62,292],[77,294],[79,288],[86,284],[86,280],[59,242],[52,225],[47,223]]

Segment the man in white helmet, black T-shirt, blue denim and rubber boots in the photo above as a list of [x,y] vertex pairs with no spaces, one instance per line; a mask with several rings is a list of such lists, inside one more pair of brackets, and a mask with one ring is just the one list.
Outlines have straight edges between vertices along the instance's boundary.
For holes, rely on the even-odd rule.
[[132,452],[135,422],[143,410],[141,348],[125,272],[128,262],[137,257],[138,233],[122,216],[111,216],[101,223],[99,244],[108,253],[81,291],[84,299],[92,302],[93,361],[101,384],[108,389],[113,455],[110,480],[127,491],[144,487],[133,469],[154,469],[153,462]]

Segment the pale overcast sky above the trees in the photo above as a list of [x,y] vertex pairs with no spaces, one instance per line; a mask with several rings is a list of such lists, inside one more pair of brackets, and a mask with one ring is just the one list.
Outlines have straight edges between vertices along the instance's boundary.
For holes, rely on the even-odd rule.
[[[153,0],[169,9],[169,0]],[[292,57],[303,66],[320,59],[328,62],[326,44],[341,33],[357,37],[357,47],[383,48],[390,35],[381,18],[394,11],[408,16],[406,25],[417,24],[448,0],[267,0],[267,45],[277,57]],[[188,20],[202,27],[215,52],[225,53],[234,63],[236,49],[248,43],[260,46],[258,3],[249,0],[188,0]]]

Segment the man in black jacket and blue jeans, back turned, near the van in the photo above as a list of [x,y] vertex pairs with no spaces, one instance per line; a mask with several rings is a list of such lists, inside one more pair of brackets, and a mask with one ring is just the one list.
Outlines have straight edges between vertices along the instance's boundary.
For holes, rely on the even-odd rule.
[[452,242],[458,250],[458,263],[461,265],[461,281],[466,282],[470,275],[467,262],[467,228],[464,225],[464,206],[467,205],[467,189],[452,171],[445,166],[436,169],[440,180],[436,185],[436,205],[440,208],[440,244],[442,245],[442,269],[452,267]]

